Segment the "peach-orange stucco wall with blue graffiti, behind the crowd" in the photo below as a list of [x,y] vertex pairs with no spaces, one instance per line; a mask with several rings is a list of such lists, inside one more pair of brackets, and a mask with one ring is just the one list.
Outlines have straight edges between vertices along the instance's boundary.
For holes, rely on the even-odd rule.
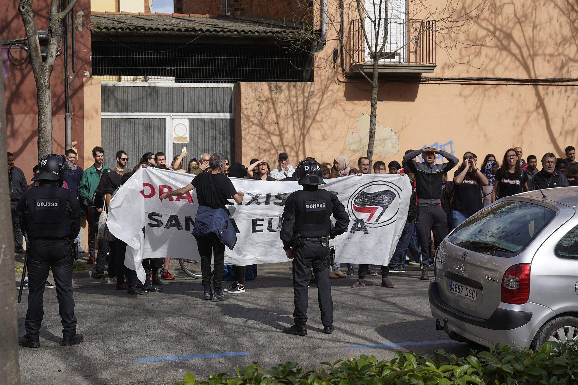
[[[464,2],[464,9],[474,3]],[[486,43],[449,51],[438,47],[438,66],[424,76],[576,77],[578,32],[566,1],[495,3],[466,34],[456,35],[462,42]],[[336,16],[335,9],[331,12]],[[328,39],[334,33],[330,27]],[[365,155],[361,132],[368,129],[368,118],[362,114],[370,111],[370,85],[337,73],[331,65],[334,48],[335,42],[329,42],[318,54],[321,68],[313,83],[240,84],[239,160],[247,164],[258,157],[276,163],[281,151],[294,165],[305,156],[332,162],[346,155],[357,162]],[[488,85],[381,83],[374,161],[401,162],[405,150],[436,143],[458,157],[474,151],[479,164],[487,153],[501,160],[514,146],[523,147],[524,157],[548,151],[564,157],[564,147],[578,146],[577,87],[479,83]]]

